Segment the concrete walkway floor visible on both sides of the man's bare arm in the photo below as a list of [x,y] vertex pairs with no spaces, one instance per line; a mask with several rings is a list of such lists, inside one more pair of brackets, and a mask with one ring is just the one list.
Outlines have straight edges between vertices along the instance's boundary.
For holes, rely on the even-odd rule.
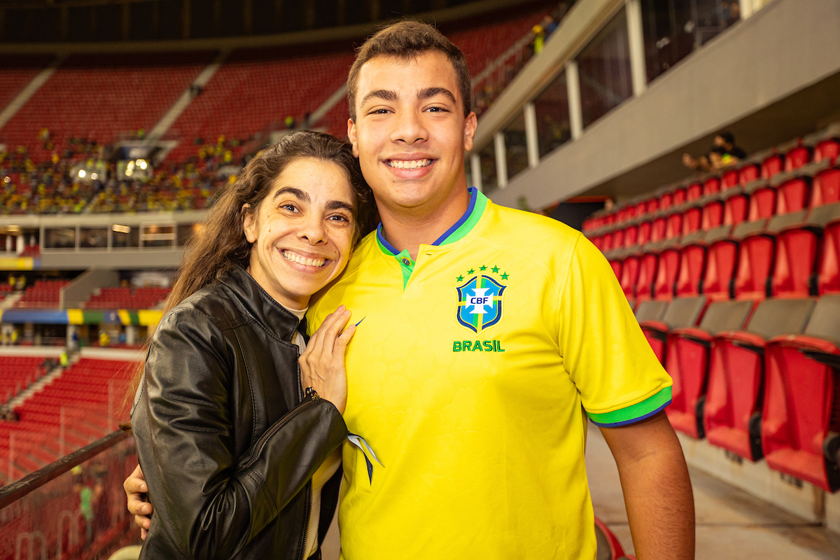
[[[586,470],[592,505],[633,553],[616,463],[601,432],[590,425]],[[689,468],[696,510],[696,557],[714,560],[837,560],[840,535],[780,510],[741,489]]]

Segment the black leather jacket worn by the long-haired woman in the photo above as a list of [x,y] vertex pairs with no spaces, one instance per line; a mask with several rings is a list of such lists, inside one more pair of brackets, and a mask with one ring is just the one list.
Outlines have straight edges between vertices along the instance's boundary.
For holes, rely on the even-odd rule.
[[[304,397],[298,327],[242,269],[160,322],[131,415],[155,508],[140,558],[303,557],[312,474],[348,434]],[[340,482],[322,489],[319,542]]]

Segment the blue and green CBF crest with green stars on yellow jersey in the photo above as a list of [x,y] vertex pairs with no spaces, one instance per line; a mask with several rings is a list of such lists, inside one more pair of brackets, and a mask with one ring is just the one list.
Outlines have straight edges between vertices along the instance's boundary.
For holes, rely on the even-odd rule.
[[[499,275],[499,267],[494,266],[487,270],[481,266],[478,274],[476,270],[469,270],[466,280],[465,276],[459,276],[456,280],[463,284],[456,285],[458,292],[458,308],[455,317],[462,327],[479,334],[486,328],[490,328],[501,321],[504,311],[504,296],[508,286],[494,278]],[[501,274],[501,279],[507,280],[507,273]]]

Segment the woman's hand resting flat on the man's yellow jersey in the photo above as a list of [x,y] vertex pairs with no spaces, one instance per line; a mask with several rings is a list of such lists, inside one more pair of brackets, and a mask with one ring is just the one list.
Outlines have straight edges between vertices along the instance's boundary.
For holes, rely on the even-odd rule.
[[301,354],[301,384],[303,388],[312,387],[318,395],[329,400],[344,414],[347,405],[347,374],[344,371],[344,351],[356,326],[344,329],[350,318],[350,311],[339,306],[330,313],[309,339],[307,349]]

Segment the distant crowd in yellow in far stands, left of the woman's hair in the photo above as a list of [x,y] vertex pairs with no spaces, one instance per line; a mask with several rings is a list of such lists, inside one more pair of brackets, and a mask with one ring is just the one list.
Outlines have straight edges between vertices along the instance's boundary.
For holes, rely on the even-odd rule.
[[[220,186],[235,180],[239,140],[220,136],[216,144],[197,139],[196,154],[184,162],[164,161],[150,173],[126,176],[110,160],[110,146],[70,139],[53,146],[49,161],[35,163],[26,146],[0,149],[0,214],[163,212],[202,209]],[[232,166],[226,173],[219,173]],[[80,177],[78,170],[86,170]]]

